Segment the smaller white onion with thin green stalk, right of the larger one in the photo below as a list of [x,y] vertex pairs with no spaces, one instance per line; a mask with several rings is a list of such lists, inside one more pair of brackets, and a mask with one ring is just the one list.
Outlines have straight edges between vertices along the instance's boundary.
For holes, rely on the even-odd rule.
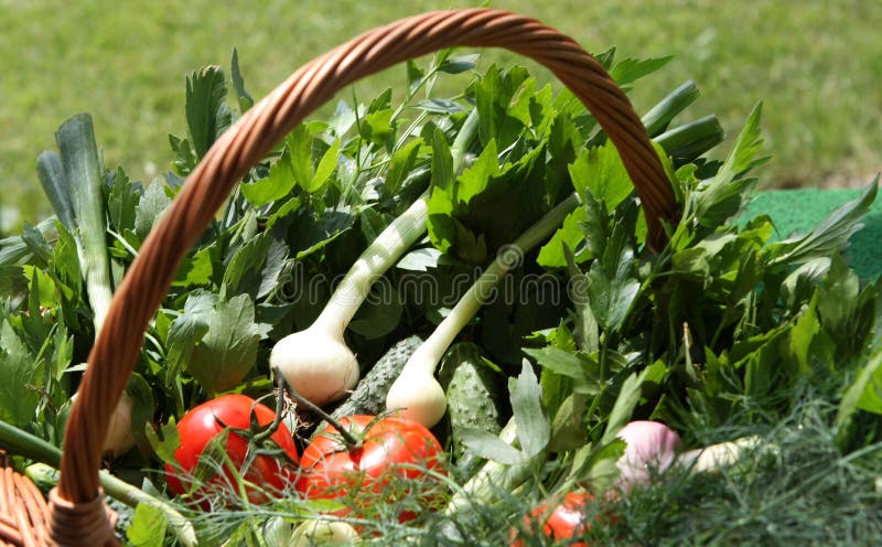
[[438,423],[447,410],[447,396],[434,377],[434,371],[444,352],[484,305],[496,285],[520,264],[523,255],[553,234],[579,203],[579,196],[571,194],[498,253],[496,259],[405,364],[386,396],[388,410],[396,410],[400,417],[419,421],[426,427]]

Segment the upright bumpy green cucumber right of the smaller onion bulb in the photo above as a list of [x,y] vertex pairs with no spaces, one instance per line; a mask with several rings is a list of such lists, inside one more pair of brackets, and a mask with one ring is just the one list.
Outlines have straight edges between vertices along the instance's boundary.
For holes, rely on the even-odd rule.
[[462,444],[463,428],[497,435],[508,415],[505,377],[481,357],[472,343],[451,346],[441,362],[439,380],[448,396],[448,423],[453,455],[460,466],[473,459]]

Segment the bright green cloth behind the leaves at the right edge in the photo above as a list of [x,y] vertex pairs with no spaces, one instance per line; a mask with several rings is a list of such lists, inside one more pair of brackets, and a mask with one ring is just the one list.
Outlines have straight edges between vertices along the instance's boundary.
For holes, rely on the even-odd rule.
[[[742,218],[766,214],[775,223],[776,236],[785,238],[810,230],[833,210],[859,195],[859,189],[771,190],[760,192]],[[875,200],[862,223],[863,228],[849,240],[846,258],[861,279],[875,280],[882,276],[882,199]]]

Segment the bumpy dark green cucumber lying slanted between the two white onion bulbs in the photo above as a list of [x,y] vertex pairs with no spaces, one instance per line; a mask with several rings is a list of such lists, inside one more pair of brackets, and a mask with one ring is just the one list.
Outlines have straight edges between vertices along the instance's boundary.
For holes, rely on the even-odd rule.
[[[358,382],[352,395],[334,408],[331,417],[338,420],[356,414],[376,416],[385,411],[386,394],[389,393],[389,387],[398,378],[407,360],[420,345],[422,345],[422,339],[417,335],[408,336],[392,345]],[[322,431],[326,425],[322,421],[315,431]]]

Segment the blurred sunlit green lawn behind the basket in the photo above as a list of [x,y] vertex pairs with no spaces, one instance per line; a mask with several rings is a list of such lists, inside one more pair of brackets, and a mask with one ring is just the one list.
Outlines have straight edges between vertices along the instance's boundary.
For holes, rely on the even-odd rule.
[[[260,97],[302,63],[361,31],[454,6],[450,0],[0,0],[0,221],[14,222],[10,207],[23,219],[47,214],[34,162],[42,150],[54,149],[55,128],[75,112],[95,116],[106,164],[149,179],[166,169],[166,135],[184,132],[187,72],[206,64],[228,72],[235,46],[246,86]],[[695,115],[717,112],[731,135],[763,100],[766,148],[775,155],[760,172],[766,185],[857,184],[882,168],[882,2],[498,0],[492,6],[537,17],[590,51],[616,45],[620,56],[677,54],[635,90],[638,110],[692,78],[704,92]],[[520,62],[498,51],[485,54],[485,65],[490,60]],[[547,73],[541,78],[550,79]],[[392,69],[361,84],[358,96],[402,82],[402,69]]]

